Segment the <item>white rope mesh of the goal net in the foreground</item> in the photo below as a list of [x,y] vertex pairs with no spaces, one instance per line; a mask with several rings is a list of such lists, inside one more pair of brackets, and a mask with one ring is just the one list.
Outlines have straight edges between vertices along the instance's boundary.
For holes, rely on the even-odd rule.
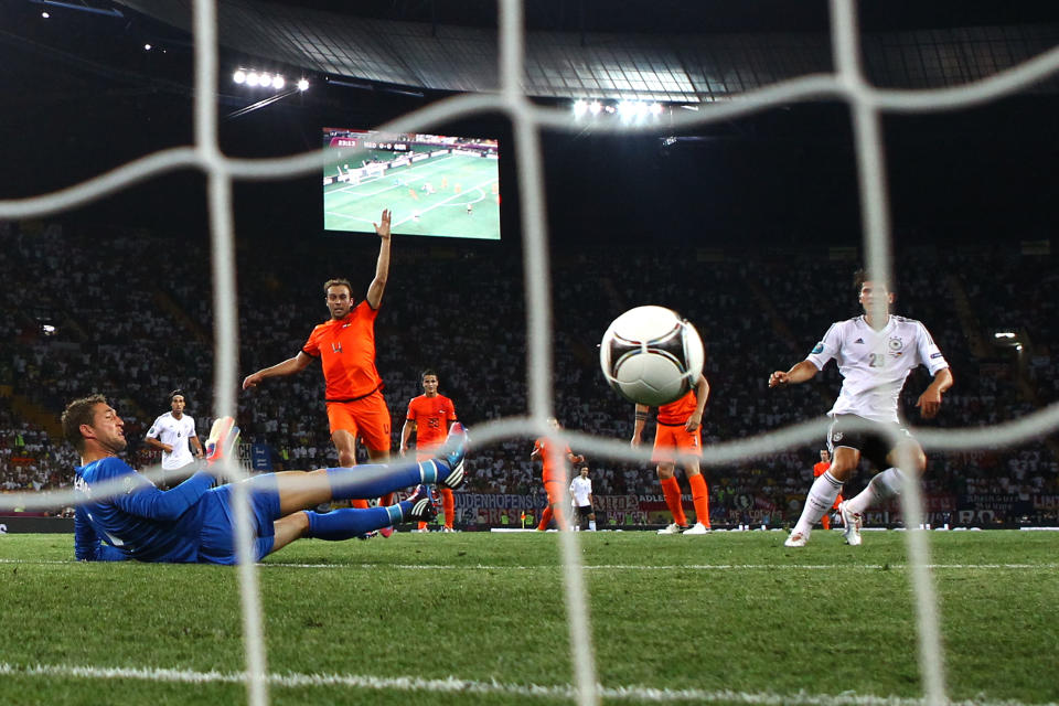
[[[463,95],[438,101],[405,115],[379,130],[408,132],[425,130],[441,121],[451,121],[477,114],[499,111],[506,115],[514,127],[514,139],[520,156],[517,170],[522,185],[522,232],[524,236],[525,299],[527,303],[527,340],[530,404],[527,416],[506,418],[475,429],[475,443],[488,446],[503,439],[518,438],[527,428],[541,435],[549,434],[547,420],[553,415],[552,398],[552,317],[548,275],[548,237],[544,199],[543,164],[539,147],[542,129],[578,130],[566,109],[534,105],[521,90],[524,75],[524,31],[521,0],[500,0],[500,68],[501,92],[496,95]],[[891,240],[889,236],[889,206],[886,190],[886,168],[880,116],[884,113],[927,113],[953,110],[1026,88],[1059,71],[1059,49],[1053,49],[1031,61],[987,79],[958,88],[938,90],[882,90],[865,79],[862,72],[855,4],[851,0],[832,0],[832,43],[836,71],[826,75],[810,75],[787,81],[745,94],[738,100],[713,104],[697,113],[675,115],[671,128],[681,130],[708,122],[747,116],[778,104],[816,99],[838,99],[851,107],[863,213],[864,249],[867,269],[873,278],[889,280]],[[208,207],[212,233],[213,292],[215,312],[215,391],[214,415],[235,415],[238,361],[238,317],[235,295],[235,258],[233,239],[232,184],[234,180],[287,179],[302,174],[318,174],[324,162],[322,152],[310,152],[282,159],[231,159],[217,142],[217,109],[213,100],[217,87],[216,7],[212,0],[194,3],[195,34],[195,143],[193,147],[163,150],[75,186],[35,197],[0,201],[0,218],[45,216],[72,210],[98,200],[127,186],[160,174],[193,168],[208,179]],[[635,126],[619,122],[599,124],[598,131],[634,131]],[[924,446],[935,450],[976,449],[1016,445],[1038,438],[1059,428],[1059,407],[1051,407],[1018,421],[998,425],[983,434],[982,429],[920,431]],[[760,457],[798,445],[816,442],[824,431],[823,421],[811,421],[762,437],[726,442],[706,449],[703,462],[720,464],[748,457]],[[564,441],[598,456],[648,461],[645,452],[631,451],[627,443],[578,432],[564,432]],[[235,477],[242,471],[228,469]],[[911,474],[909,474],[910,477]],[[919,525],[920,495],[914,482],[907,484],[905,500],[906,524]],[[9,495],[4,506],[35,504],[53,506],[73,502],[53,494],[46,500],[32,495]],[[255,706],[268,703],[268,675],[263,641],[261,609],[256,568],[250,560],[250,526],[246,499],[236,503],[238,512],[238,550],[240,556],[239,586],[243,605],[246,645],[245,678],[249,702]],[[930,704],[945,703],[945,682],[942,670],[943,651],[939,639],[938,610],[929,571],[929,546],[921,532],[906,533],[909,563],[919,628],[920,667],[924,698]],[[567,614],[575,665],[574,695],[580,704],[597,704],[603,689],[596,678],[590,639],[586,587],[580,566],[578,535],[561,533],[560,548],[565,567]],[[133,675],[135,677],[136,675]],[[147,675],[142,678],[165,678]],[[439,691],[445,685],[436,685]],[[400,685],[395,685],[400,688]],[[463,685],[466,687],[466,685]],[[427,688],[430,688],[428,685]],[[556,694],[565,696],[568,694]],[[641,695],[643,696],[643,695]],[[676,698],[705,698],[705,694],[675,694]],[[762,702],[763,703],[763,702]],[[837,703],[837,702],[835,702]]]

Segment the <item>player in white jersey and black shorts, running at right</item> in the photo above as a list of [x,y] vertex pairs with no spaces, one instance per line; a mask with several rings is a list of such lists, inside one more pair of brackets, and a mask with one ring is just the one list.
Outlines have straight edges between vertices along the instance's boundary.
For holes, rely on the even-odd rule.
[[[860,494],[838,506],[846,543],[860,544],[865,510],[901,492],[901,471],[896,468],[899,454],[910,454],[914,468],[906,470],[917,475],[927,466],[922,447],[900,428],[897,416],[908,374],[926,365],[934,378],[916,402],[926,419],[938,414],[942,394],[952,387],[949,363],[927,328],[913,319],[890,314],[894,303],[890,288],[885,282],[867,279],[863,271],[857,272],[855,284],[864,315],[833,323],[804,361],[769,376],[769,387],[804,383],[832,359],[843,376],[842,392],[827,413],[833,419],[827,432],[831,468],[810,488],[802,515],[784,543],[789,547],[805,546],[813,525],[835,502],[843,483],[849,480],[864,456],[886,470],[873,478]],[[867,430],[865,424],[878,430]],[[896,443],[895,431],[900,435]]]

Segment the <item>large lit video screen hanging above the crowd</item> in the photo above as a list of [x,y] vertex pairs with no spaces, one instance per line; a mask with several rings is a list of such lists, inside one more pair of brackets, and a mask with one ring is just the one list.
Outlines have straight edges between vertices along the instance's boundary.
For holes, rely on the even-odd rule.
[[374,233],[383,208],[393,233],[500,239],[496,140],[324,128],[325,231]]

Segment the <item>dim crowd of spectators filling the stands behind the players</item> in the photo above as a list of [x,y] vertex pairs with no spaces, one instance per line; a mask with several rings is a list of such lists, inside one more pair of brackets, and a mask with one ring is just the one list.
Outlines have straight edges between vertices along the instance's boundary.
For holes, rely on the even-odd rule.
[[[312,247],[243,242],[238,252],[239,371],[284,360],[324,320],[321,284],[347,277],[360,299],[374,267],[370,236],[324,235]],[[438,371],[441,392],[474,426],[526,409],[525,309],[517,252],[403,242],[395,236],[391,281],[376,323],[377,365],[394,420],[394,449],[419,372]],[[191,252],[194,248],[189,247]],[[206,252],[206,248],[197,248]],[[141,440],[184,391],[200,432],[208,428],[213,315],[207,263],[173,255],[172,238],[136,229],[99,233],[58,224],[0,223],[0,490],[69,483],[76,462],[49,419],[72,397],[100,392],[126,420],[133,463],[157,461]],[[164,254],[159,257],[158,254]],[[674,257],[646,247],[553,253],[555,409],[568,429],[628,440],[632,405],[609,391],[596,345],[610,320],[640,303],[676,309],[707,344],[712,385],[704,443],[744,439],[826,411],[839,378],[830,366],[812,385],[782,396],[768,373],[801,360],[832,321],[858,313],[843,257],[793,252],[721,254],[694,248]],[[86,267],[85,263],[105,267]],[[635,261],[630,269],[627,264]],[[952,263],[949,258],[946,263]],[[1050,257],[1010,252],[964,254],[941,265],[930,248],[896,264],[895,311],[922,320],[953,367],[956,385],[935,420],[975,427],[1023,417],[1059,398],[1051,361],[1059,275]],[[938,272],[949,272],[939,277]],[[88,333],[88,332],[92,333]],[[1014,339],[996,339],[1012,331]],[[1015,344],[1020,347],[1017,347]],[[998,345],[999,343],[999,345]],[[927,385],[919,371],[905,409]],[[244,440],[268,445],[277,468],[333,466],[323,382],[313,366],[239,396]],[[822,440],[821,440],[822,442]],[[470,492],[541,491],[530,462],[532,438],[477,448]],[[706,468],[714,513],[747,506],[782,511],[804,492],[817,448],[791,449],[724,468]],[[1059,493],[1055,439],[1015,449],[929,454],[929,493],[1026,496]],[[656,493],[651,469],[589,459],[595,494]],[[853,484],[867,482],[860,473]],[[851,488],[856,491],[856,488]]]

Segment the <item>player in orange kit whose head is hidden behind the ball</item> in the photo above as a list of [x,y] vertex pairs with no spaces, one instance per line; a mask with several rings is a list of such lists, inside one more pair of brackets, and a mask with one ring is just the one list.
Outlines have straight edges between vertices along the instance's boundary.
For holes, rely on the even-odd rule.
[[[676,471],[676,454],[703,454],[700,426],[703,410],[706,408],[706,398],[709,397],[709,383],[705,376],[698,378],[695,389],[686,395],[659,407],[656,418],[657,429],[654,432],[654,454],[651,460],[657,463],[659,481],[662,483],[662,493],[665,504],[673,514],[673,522],[659,534],[706,534],[709,532],[709,488],[698,468],[698,459],[684,459],[681,463],[687,475],[687,484],[692,486],[692,501],[695,503],[695,526],[687,527],[687,516],[681,506],[681,485],[674,475]],[[632,448],[643,443],[643,428],[648,424],[646,405],[637,405],[637,420],[632,430]]]

